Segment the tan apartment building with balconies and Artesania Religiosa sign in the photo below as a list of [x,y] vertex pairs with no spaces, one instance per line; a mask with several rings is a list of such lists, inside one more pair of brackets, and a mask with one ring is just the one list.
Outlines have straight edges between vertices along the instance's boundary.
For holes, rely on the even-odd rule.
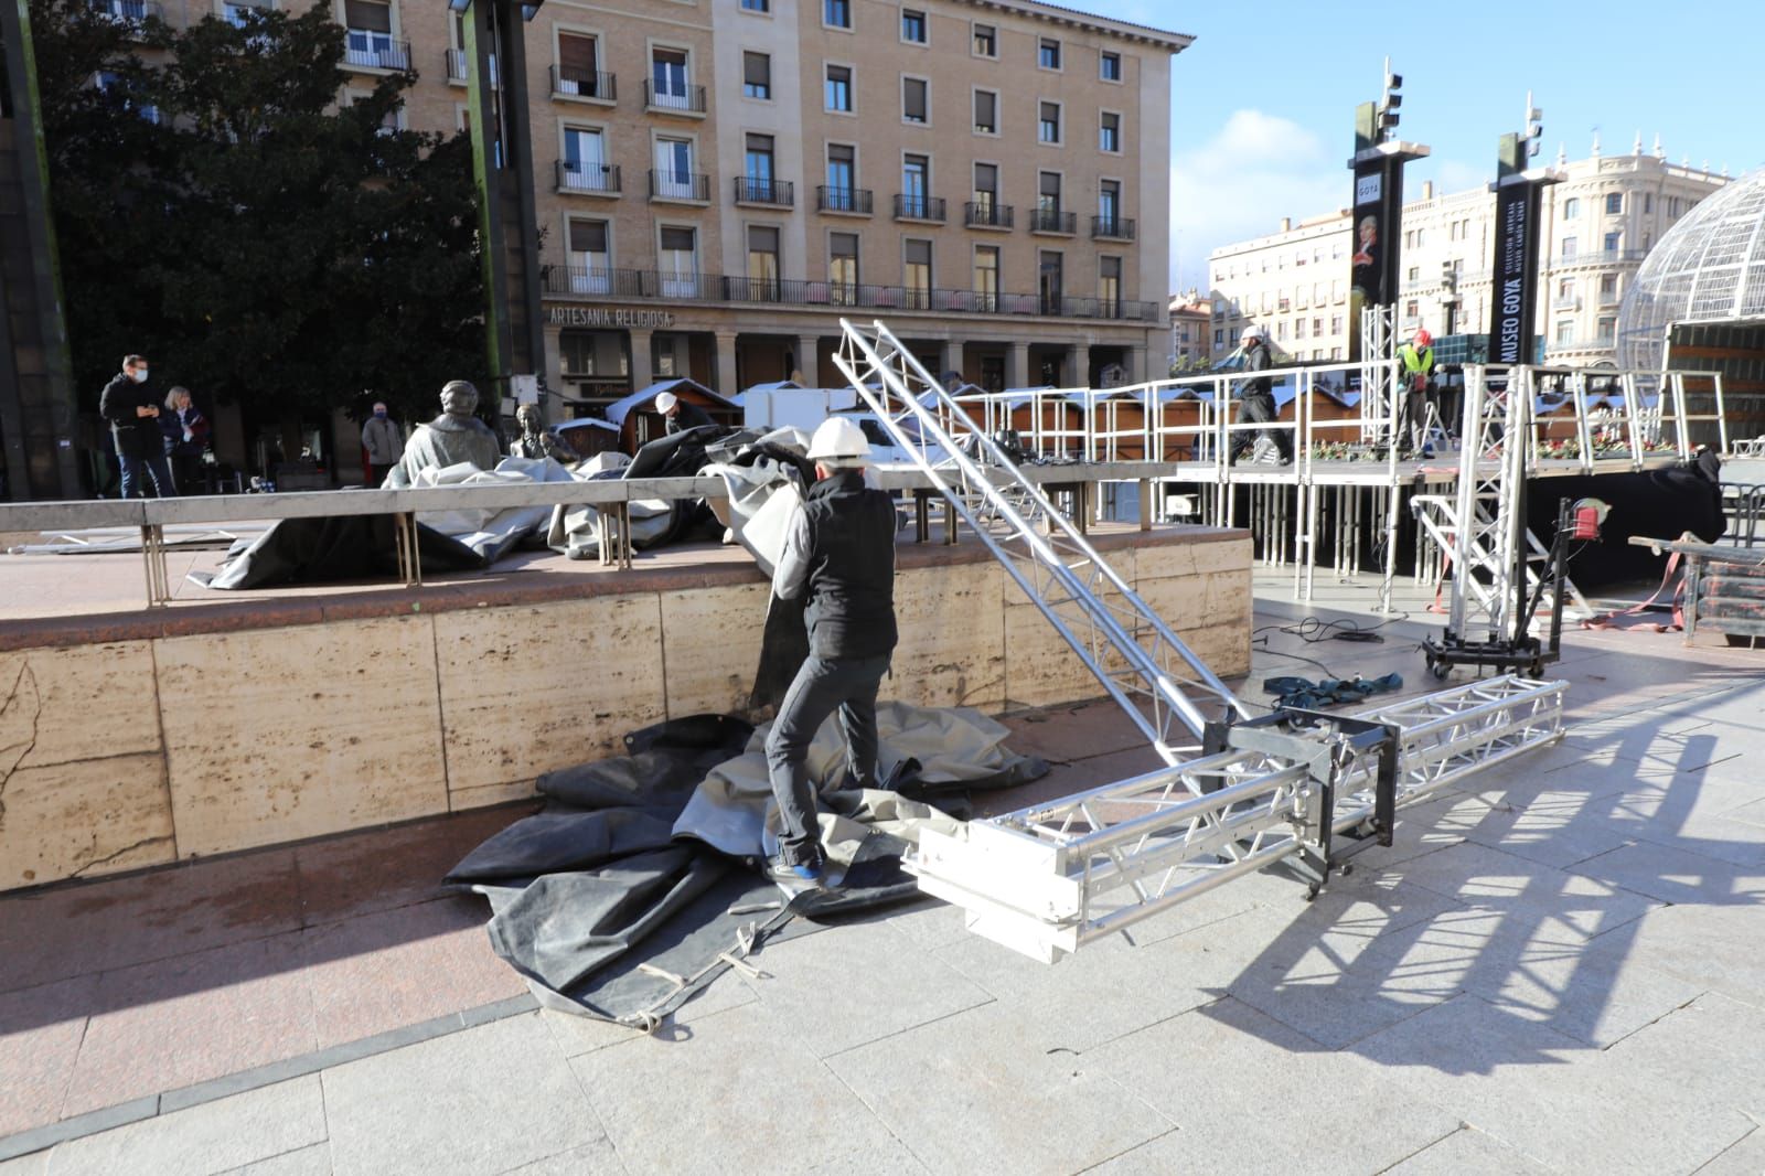
[[[319,2],[362,88],[417,74],[402,125],[468,125],[448,4]],[[1190,37],[1034,0],[547,0],[524,35],[552,418],[837,383],[842,316],[985,387],[1160,374]]]

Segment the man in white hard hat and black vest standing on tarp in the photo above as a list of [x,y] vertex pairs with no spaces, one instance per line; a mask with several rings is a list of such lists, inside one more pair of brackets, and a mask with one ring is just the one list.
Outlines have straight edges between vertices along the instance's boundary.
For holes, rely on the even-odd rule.
[[778,856],[768,872],[819,885],[824,867],[808,745],[835,710],[858,788],[877,782],[877,687],[895,652],[895,503],[865,486],[870,441],[854,420],[824,420],[808,443],[815,484],[785,531],[773,595],[805,599],[808,659],[766,736],[778,802]]

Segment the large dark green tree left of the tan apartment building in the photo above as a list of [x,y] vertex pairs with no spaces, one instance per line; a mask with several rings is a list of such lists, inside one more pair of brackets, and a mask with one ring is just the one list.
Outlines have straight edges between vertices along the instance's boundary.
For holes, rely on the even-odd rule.
[[32,21],[88,403],[127,351],[259,422],[365,390],[422,418],[482,374],[469,145],[390,129],[413,76],[346,92],[325,5],[175,30],[32,0]]

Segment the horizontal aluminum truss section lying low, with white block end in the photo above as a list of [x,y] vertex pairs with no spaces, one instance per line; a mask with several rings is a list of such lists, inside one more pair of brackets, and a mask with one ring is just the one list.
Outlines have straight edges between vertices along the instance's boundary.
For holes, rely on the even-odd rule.
[[1391,844],[1396,807],[1560,738],[1564,685],[1502,676],[1354,719],[1216,727],[1223,747],[1191,763],[925,832],[907,869],[971,931],[1047,962],[1276,862],[1317,893],[1336,839]]

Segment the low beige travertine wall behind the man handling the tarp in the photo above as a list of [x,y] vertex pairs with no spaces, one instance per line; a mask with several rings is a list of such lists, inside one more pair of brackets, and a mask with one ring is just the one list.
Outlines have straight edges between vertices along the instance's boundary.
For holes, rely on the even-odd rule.
[[[1250,669],[1248,539],[1108,558],[1216,673]],[[1101,692],[997,563],[904,567],[897,613],[884,694]],[[738,710],[764,614],[743,581],[0,653],[0,890],[528,796],[627,731]]]

